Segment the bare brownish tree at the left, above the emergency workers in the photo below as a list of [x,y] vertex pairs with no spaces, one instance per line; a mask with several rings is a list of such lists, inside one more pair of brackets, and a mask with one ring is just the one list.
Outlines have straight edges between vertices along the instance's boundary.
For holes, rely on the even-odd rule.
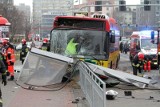
[[10,40],[13,40],[15,34],[25,34],[28,39],[31,25],[30,21],[26,20],[25,13],[18,11],[15,6],[9,4],[0,4],[0,7],[0,14],[11,23]]

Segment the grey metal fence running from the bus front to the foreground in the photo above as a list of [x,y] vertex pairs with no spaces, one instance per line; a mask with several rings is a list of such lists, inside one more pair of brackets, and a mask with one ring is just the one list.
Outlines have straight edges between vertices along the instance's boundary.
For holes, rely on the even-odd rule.
[[106,107],[106,85],[85,62],[79,64],[80,85],[90,107]]

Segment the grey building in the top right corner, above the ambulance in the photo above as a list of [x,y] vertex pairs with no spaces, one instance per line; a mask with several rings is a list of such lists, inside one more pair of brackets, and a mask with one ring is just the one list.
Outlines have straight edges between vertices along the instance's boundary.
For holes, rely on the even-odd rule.
[[[149,0],[150,4],[160,4],[160,0]],[[144,4],[144,0],[140,1]],[[144,11],[144,6],[137,7],[137,24],[139,30],[144,29],[157,29],[160,27],[160,6],[151,6],[149,11]]]

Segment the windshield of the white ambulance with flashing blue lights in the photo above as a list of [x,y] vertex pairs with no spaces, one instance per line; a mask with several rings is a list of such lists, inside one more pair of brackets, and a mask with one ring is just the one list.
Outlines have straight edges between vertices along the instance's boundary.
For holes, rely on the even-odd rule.
[[157,44],[153,44],[151,39],[142,39],[141,40],[141,48],[142,49],[155,49],[157,48]]

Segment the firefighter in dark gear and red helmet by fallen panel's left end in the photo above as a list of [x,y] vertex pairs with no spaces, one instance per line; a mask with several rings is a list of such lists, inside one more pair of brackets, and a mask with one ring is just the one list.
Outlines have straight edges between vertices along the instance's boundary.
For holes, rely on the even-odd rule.
[[22,64],[27,56],[28,51],[29,48],[27,47],[26,40],[22,39],[22,49],[20,51],[20,61],[22,62]]

